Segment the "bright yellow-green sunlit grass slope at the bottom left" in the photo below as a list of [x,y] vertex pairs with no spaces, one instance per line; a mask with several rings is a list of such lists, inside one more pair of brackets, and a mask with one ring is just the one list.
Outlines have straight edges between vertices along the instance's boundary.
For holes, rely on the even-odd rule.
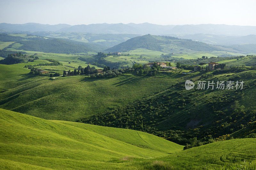
[[152,159],[182,149],[140,131],[44,120],[0,109],[3,169],[135,169],[126,160]]

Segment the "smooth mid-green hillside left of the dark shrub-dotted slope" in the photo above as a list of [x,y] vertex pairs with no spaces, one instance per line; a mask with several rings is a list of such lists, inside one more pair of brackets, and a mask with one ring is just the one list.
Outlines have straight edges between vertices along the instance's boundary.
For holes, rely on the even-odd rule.
[[0,93],[0,107],[45,119],[77,120],[128,104],[174,83],[175,79],[133,74],[116,78],[42,78]]

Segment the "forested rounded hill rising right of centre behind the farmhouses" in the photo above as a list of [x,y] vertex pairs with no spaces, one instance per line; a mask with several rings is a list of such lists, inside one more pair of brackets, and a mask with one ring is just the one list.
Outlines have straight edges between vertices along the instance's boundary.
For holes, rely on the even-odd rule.
[[[192,51],[227,51],[221,49],[218,46],[212,46],[204,42],[192,41],[188,39],[178,39],[176,37],[169,36],[156,36],[156,35],[143,35],[139,37],[131,38],[125,42],[122,42],[114,47],[108,48],[105,51],[111,52],[125,52],[135,50],[137,48],[146,48],[153,51],[162,51],[165,53],[182,53]],[[234,50],[232,51],[234,52]],[[237,51],[238,52],[238,51]]]

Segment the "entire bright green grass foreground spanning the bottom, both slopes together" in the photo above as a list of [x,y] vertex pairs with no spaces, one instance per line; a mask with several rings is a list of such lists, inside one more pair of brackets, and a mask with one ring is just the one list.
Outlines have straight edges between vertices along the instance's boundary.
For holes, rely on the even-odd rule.
[[181,145],[140,131],[44,120],[4,109],[0,129],[3,169],[231,169],[244,159],[254,160],[250,167],[255,168],[255,139],[181,151]]

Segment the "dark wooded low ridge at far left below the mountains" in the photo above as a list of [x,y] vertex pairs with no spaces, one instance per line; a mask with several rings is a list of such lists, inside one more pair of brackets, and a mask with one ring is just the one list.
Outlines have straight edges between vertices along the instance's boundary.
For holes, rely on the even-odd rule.
[[41,51],[47,53],[87,53],[98,52],[105,47],[97,44],[72,41],[67,39],[46,38],[28,34],[0,34],[0,41],[14,42],[4,49]]

